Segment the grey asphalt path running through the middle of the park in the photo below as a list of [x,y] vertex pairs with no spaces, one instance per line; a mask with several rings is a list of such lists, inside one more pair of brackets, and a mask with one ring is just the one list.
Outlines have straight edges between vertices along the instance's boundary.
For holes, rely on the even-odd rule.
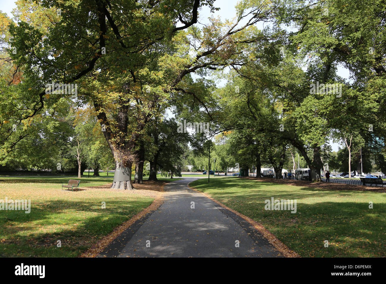
[[[187,184],[193,180],[165,185],[164,203],[132,224],[97,257],[283,256],[252,224],[189,189]],[[194,209],[191,202],[195,202]]]

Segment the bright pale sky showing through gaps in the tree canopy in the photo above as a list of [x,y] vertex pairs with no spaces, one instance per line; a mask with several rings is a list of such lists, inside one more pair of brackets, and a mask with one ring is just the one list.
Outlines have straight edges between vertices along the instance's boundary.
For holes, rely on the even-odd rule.
[[[220,8],[219,11],[215,11],[213,14],[210,13],[209,9],[202,9],[199,12],[199,20],[201,24],[208,23],[208,17],[214,15],[215,17],[220,17],[221,19],[233,19],[236,16],[235,5],[237,0],[216,0],[214,6]],[[16,7],[16,4],[12,0],[0,0],[0,10],[2,12],[7,13],[9,17],[12,17],[12,9]],[[349,80],[350,73],[347,69],[339,66],[338,75],[342,78],[345,78],[347,81]],[[337,151],[339,144],[332,143],[330,141],[330,145],[332,146],[333,151]]]

